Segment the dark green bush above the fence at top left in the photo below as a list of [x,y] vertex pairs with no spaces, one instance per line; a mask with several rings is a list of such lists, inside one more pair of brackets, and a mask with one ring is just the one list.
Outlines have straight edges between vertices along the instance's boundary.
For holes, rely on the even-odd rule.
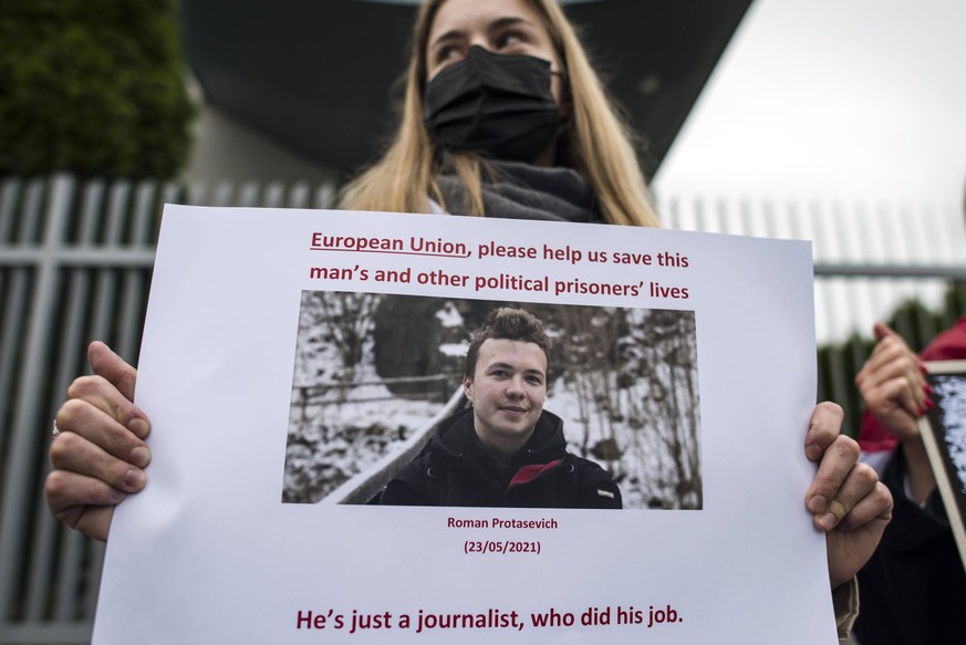
[[0,175],[178,174],[197,111],[177,0],[0,0]]

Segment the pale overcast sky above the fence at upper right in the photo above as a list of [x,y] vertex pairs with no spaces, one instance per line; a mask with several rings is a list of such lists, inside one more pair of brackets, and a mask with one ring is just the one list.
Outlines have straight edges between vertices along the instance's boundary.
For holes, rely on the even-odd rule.
[[754,0],[653,185],[958,207],[966,1]]

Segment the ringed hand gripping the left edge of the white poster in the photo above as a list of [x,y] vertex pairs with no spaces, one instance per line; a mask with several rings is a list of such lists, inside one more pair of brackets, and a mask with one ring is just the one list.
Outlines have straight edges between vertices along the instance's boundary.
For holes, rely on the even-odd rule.
[[54,517],[104,541],[114,507],[147,481],[150,424],[133,403],[137,371],[101,342],[87,360],[94,374],[74,379],[58,410],[43,492]]

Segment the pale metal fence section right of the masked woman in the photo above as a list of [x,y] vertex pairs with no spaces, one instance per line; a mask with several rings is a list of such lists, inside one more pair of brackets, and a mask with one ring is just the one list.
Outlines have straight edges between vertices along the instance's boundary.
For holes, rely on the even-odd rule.
[[920,351],[966,315],[962,205],[675,197],[663,211],[669,228],[812,241],[818,399],[844,408],[850,435],[860,423],[853,383],[872,324],[893,323]]

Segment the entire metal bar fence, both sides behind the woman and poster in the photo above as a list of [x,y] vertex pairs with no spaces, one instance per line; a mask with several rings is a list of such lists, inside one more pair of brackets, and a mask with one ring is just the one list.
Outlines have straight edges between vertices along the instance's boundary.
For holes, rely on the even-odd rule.
[[[334,193],[69,176],[0,184],[0,644],[90,641],[103,549],[44,507],[50,424],[70,382],[87,371],[87,341],[136,360],[162,205],[325,208]],[[920,347],[966,311],[958,299],[943,302],[966,279],[955,206],[669,199],[663,210],[673,228],[814,240],[817,331],[832,345],[820,356],[819,396],[845,405],[849,431],[859,409],[852,378],[868,352],[850,334],[868,334],[915,297],[941,312],[901,318]]]

